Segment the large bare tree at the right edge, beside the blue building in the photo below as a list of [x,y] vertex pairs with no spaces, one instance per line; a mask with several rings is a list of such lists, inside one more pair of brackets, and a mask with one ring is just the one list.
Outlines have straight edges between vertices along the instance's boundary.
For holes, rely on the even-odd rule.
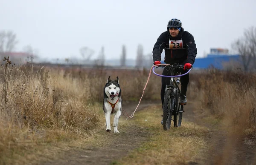
[[244,31],[244,36],[237,39],[233,45],[242,59],[244,71],[256,69],[256,28],[250,27]]

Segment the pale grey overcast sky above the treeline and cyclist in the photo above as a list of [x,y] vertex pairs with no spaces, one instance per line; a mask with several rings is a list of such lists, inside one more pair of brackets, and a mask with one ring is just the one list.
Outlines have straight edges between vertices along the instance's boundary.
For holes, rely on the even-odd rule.
[[81,57],[88,46],[97,58],[119,58],[122,45],[136,58],[138,44],[152,54],[172,18],[194,36],[198,57],[230,48],[245,28],[256,26],[255,0],[0,0],[0,30],[12,30],[17,51],[30,45],[44,58]]

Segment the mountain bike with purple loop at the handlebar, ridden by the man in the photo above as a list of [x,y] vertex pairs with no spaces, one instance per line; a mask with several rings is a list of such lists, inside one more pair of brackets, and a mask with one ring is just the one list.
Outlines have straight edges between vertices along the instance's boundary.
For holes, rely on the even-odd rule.
[[[170,84],[167,85],[166,82],[166,91],[165,91],[165,96],[164,96],[164,102],[163,102],[163,130],[169,130],[171,127],[171,122],[173,120],[174,122],[174,127],[180,127],[181,126],[181,121],[182,121],[182,114],[184,112],[183,105],[186,104],[180,104],[180,77],[184,76],[191,71],[191,68],[188,70],[185,74],[180,74],[179,69],[183,69],[184,65],[179,65],[179,64],[173,64],[173,65],[160,65],[157,66],[159,67],[168,67],[168,69],[171,70],[171,75],[166,76],[166,75],[161,75],[157,74],[154,71],[155,66],[153,67],[153,73],[156,74],[157,76],[160,77],[171,77],[170,79]],[[168,71],[168,70],[167,70]],[[175,80],[174,77],[177,77],[177,80]],[[172,119],[173,116],[173,119]],[[178,118],[178,122],[177,122]]]

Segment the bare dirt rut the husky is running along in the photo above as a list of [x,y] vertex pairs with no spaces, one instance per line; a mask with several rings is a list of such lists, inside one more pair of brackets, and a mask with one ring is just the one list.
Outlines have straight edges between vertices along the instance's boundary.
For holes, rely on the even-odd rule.
[[[155,104],[141,102],[137,111],[151,105]],[[136,103],[123,105],[123,108],[129,115],[131,115],[136,107]],[[124,122],[124,120],[132,119],[127,119],[122,115],[120,122]],[[102,147],[87,146],[86,148],[76,148],[66,152],[63,156],[54,161],[41,162],[40,165],[109,165],[113,159],[125,156],[129,151],[138,148],[141,142],[144,142],[149,136],[149,133],[146,132],[145,129],[131,122],[125,123],[129,124],[129,126],[125,130],[120,126],[120,134],[114,134],[111,129],[111,132],[106,132],[101,137],[102,140],[105,141],[105,145]]]

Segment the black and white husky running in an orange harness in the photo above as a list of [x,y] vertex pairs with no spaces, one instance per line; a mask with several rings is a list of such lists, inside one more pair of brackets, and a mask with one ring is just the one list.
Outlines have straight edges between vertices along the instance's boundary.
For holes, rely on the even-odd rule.
[[106,117],[106,131],[111,131],[110,116],[111,114],[114,114],[114,133],[119,133],[117,125],[122,113],[122,98],[118,77],[113,81],[110,79],[110,76],[108,77],[104,88],[103,111]]

